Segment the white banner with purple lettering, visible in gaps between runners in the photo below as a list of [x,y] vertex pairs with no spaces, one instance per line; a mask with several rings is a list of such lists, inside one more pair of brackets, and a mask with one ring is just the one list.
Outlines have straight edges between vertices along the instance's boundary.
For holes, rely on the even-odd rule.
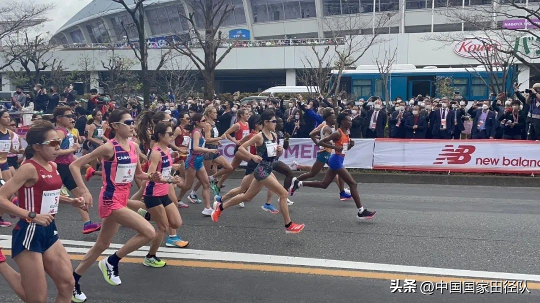
[[[372,168],[374,144],[375,139],[354,139],[354,147],[347,152],[343,165],[347,168]],[[231,141],[221,140],[219,152],[228,161],[232,161],[234,147],[235,144]],[[289,148],[285,150],[279,160],[286,164],[296,161],[298,164],[311,166],[318,151],[319,147],[311,139],[291,138],[289,139]],[[245,164],[244,162],[242,165]]]

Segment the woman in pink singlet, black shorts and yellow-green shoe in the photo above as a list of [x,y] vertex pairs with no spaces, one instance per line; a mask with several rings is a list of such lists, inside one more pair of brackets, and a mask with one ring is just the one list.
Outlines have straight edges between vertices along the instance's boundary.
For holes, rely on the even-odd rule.
[[[169,228],[175,231],[174,236],[176,236],[176,230],[182,225],[182,218],[178,212],[177,205],[169,197],[170,184],[182,182],[179,176],[172,177],[171,174],[174,167],[168,146],[173,141],[172,135],[172,128],[168,123],[161,122],[154,127],[153,139],[156,144],[150,153],[148,173],[152,174],[158,171],[161,173],[161,181],[165,183],[149,181],[146,182],[144,189],[144,204],[148,212],[150,212],[152,220],[158,225],[156,237],[152,240],[150,250],[144,258],[143,263],[151,267],[163,267],[167,264],[156,256],[159,245],[163,241],[165,233],[169,231]],[[187,241],[182,241],[180,237],[178,238],[178,247],[186,247],[189,244]]]

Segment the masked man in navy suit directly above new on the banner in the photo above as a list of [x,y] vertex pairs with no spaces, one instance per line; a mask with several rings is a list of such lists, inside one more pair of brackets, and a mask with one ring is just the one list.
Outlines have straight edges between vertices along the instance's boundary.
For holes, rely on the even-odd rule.
[[469,109],[469,114],[473,117],[473,128],[471,137],[475,139],[495,139],[495,130],[498,121],[494,111],[489,110],[489,100],[478,103]]

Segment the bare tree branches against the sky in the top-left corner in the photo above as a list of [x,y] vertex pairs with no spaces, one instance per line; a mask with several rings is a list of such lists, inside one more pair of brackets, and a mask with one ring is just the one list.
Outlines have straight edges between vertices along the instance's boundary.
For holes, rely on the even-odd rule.
[[19,41],[18,32],[39,25],[45,21],[43,16],[52,9],[52,4],[26,3],[24,1],[9,1],[0,3],[0,70],[15,63],[24,50],[15,48]]

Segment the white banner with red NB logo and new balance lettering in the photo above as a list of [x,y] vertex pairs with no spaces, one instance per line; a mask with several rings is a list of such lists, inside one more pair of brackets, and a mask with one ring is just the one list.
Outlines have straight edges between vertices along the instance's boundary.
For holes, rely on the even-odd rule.
[[374,169],[540,172],[540,142],[376,139]]

